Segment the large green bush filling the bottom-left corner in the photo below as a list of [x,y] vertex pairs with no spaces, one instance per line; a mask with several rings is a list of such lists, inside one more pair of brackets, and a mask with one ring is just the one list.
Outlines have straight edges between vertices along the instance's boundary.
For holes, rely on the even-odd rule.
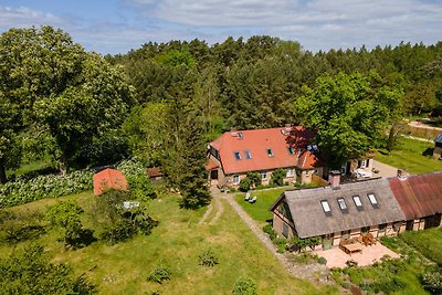
[[14,251],[0,260],[0,288],[4,294],[93,294],[84,276],[75,278],[71,267],[52,264],[40,245]]

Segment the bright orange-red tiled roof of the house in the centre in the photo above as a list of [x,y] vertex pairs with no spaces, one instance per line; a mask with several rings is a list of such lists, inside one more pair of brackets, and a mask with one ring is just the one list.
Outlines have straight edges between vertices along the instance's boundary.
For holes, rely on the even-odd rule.
[[[241,136],[240,136],[241,134]],[[288,168],[298,165],[298,151],[304,151],[313,133],[302,126],[280,127],[255,130],[227,131],[210,145],[218,150],[224,173],[260,171],[276,168]],[[294,154],[288,152],[292,146]],[[272,149],[273,156],[267,155]],[[252,156],[245,158],[245,151]],[[240,152],[236,160],[234,152]],[[304,151],[306,167],[313,167],[317,158],[309,151]]]

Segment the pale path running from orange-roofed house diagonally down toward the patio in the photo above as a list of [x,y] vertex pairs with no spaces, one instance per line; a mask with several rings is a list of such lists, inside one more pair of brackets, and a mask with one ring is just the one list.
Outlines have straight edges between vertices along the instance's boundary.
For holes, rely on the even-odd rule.
[[[322,282],[327,282],[328,268],[320,264],[293,264],[288,260],[287,253],[277,253],[276,246],[272,240],[262,231],[262,229],[254,222],[249,214],[241,208],[240,204],[234,200],[234,196],[224,193],[212,189],[212,196],[214,199],[224,199],[242,219],[242,221],[252,230],[252,232],[261,240],[261,242],[269,249],[270,252],[276,257],[276,260],[284,265],[284,267],[294,276],[303,280],[309,280],[317,282],[319,278]],[[319,273],[319,275],[317,275]]]

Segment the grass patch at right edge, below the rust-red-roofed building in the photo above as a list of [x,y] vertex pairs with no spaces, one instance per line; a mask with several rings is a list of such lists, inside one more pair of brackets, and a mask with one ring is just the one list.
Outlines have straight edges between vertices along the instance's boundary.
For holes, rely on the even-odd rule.
[[400,238],[425,257],[442,266],[442,228],[424,231],[408,231]]

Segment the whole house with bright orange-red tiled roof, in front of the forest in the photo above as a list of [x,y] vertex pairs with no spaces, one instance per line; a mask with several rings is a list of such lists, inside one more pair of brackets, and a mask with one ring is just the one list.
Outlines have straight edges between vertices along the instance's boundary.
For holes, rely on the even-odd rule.
[[309,183],[324,167],[312,137],[302,126],[227,131],[210,143],[206,169],[220,187],[238,186],[248,172],[260,172],[267,185],[277,168],[286,169],[285,181]]

